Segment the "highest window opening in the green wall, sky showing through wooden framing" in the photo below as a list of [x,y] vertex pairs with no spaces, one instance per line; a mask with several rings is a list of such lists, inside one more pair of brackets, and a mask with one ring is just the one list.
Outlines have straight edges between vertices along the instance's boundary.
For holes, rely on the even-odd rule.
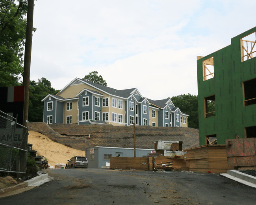
[[255,57],[256,32],[241,38],[240,44],[241,44],[241,62]]

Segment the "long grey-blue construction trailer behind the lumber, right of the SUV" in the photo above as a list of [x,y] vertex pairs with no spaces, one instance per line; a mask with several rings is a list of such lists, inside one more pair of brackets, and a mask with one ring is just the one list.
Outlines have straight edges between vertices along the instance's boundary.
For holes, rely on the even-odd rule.
[[[153,149],[136,148],[136,157],[147,157],[148,153],[152,153]],[[104,147],[91,146],[86,148],[86,158],[88,160],[88,168],[101,168],[110,163],[111,157],[134,157],[133,148],[120,147]]]

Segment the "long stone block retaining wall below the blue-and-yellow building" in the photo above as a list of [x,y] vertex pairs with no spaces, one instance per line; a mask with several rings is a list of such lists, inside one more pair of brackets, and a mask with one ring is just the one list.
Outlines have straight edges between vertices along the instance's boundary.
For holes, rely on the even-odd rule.
[[[133,126],[29,123],[29,130],[79,150],[85,150],[84,139],[87,147],[134,148]],[[193,128],[136,126],[135,132],[136,148],[154,149],[158,140],[183,141],[183,149],[199,146],[199,131]]]

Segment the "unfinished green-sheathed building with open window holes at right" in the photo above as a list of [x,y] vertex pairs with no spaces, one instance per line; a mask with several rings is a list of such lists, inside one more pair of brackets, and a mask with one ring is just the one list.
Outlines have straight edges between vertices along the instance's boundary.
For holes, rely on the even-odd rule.
[[197,57],[200,145],[256,137],[256,27]]

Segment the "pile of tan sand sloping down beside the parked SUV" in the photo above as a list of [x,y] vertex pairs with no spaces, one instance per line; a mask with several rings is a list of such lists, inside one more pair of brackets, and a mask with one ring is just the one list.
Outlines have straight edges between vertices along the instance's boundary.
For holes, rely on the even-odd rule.
[[46,157],[50,166],[65,164],[68,159],[74,156],[85,156],[85,151],[56,143],[41,133],[34,131],[28,133],[28,143],[33,145],[32,150],[37,151],[37,156]]

